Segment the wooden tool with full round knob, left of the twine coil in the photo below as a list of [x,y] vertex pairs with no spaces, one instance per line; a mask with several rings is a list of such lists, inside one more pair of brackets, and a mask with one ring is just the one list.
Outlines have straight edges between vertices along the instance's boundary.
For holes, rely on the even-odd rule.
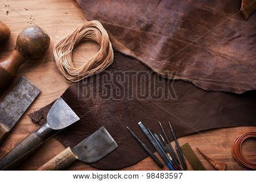
[[0,89],[5,88],[27,59],[36,59],[48,49],[50,38],[38,26],[25,28],[18,36],[11,54],[0,60]]

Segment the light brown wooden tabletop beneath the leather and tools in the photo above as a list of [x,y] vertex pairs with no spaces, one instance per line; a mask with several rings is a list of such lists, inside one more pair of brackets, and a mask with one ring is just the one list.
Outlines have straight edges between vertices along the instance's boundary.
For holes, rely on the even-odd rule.
[[[53,46],[58,40],[63,38],[63,36],[74,30],[78,24],[85,22],[86,17],[79,5],[72,0],[1,0],[0,20],[6,23],[11,30],[10,40],[0,47],[0,57],[9,55],[15,47],[16,37],[19,32],[31,24],[40,26],[51,37],[51,45],[46,55],[41,59],[28,61],[22,65],[19,69],[18,76],[15,78],[16,81],[20,76],[25,76],[40,88],[41,93],[11,131],[9,137],[1,144],[0,158],[2,158],[8,151],[16,146],[16,144],[39,127],[31,122],[27,114],[48,105],[56,98],[60,97],[64,90],[71,85],[64,81],[64,78],[56,68],[53,58]],[[96,53],[97,48],[98,45],[93,42],[84,42],[77,46],[76,50],[73,52],[75,65],[80,65],[92,57],[94,53]],[[252,130],[256,131],[256,127],[233,127],[209,130],[203,131],[201,134],[192,134],[180,138],[179,142],[180,145],[189,142],[192,149],[208,170],[213,170],[213,167],[199,154],[196,147],[200,148],[206,155],[220,160],[220,162],[227,163],[228,170],[245,170],[245,168],[241,167],[232,157],[231,148],[236,137]],[[51,138],[44,143],[35,154],[26,160],[19,169],[35,170],[64,149],[61,143],[55,138]],[[242,150],[247,159],[255,161],[255,140],[246,141]],[[188,162],[187,164],[188,169],[191,170],[192,168]],[[82,162],[76,162],[68,169],[94,170],[94,168]],[[151,158],[146,158],[134,166],[125,168],[125,170],[158,169],[158,166],[156,166]]]

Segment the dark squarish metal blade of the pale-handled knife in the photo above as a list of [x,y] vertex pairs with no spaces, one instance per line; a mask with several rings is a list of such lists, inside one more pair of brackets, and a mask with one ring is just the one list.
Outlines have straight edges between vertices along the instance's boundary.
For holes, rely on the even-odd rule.
[[85,163],[94,163],[110,152],[118,145],[105,127],[101,127],[88,138],[73,148],[79,160]]

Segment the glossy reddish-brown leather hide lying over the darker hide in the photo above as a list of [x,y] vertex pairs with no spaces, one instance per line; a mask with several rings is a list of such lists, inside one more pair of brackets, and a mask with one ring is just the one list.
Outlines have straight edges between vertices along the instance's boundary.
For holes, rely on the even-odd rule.
[[256,89],[256,14],[244,20],[241,1],[77,0],[99,20],[113,46],[164,77],[205,90]]

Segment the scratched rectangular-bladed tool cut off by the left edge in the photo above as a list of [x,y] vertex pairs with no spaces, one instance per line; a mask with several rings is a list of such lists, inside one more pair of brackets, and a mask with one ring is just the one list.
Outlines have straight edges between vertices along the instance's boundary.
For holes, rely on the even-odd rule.
[[39,88],[22,76],[7,96],[0,101],[0,143],[39,93]]

